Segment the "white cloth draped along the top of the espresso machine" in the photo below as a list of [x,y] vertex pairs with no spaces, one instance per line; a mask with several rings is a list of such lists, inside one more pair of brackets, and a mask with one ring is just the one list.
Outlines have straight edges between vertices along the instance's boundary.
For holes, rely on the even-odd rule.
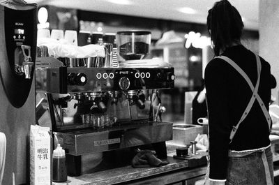
[[50,57],[68,58],[88,58],[105,57],[105,47],[103,45],[71,45],[67,40],[54,40],[52,38],[40,38],[37,42],[38,47],[45,45]]

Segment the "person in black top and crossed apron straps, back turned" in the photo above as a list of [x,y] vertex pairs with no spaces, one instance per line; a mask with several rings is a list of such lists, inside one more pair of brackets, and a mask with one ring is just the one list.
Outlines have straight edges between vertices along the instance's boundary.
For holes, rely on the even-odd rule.
[[271,66],[241,45],[244,25],[229,1],[214,4],[207,27],[216,55],[205,70],[209,182],[273,184]]

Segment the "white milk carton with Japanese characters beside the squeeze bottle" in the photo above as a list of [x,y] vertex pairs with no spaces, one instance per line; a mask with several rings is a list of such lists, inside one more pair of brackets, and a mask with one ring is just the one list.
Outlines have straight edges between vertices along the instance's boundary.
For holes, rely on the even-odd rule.
[[49,185],[51,177],[50,128],[31,125],[30,129],[30,184]]

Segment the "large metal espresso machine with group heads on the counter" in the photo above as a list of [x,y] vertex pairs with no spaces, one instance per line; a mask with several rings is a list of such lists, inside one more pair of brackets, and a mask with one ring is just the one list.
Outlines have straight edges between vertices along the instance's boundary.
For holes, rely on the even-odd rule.
[[47,95],[40,107],[50,110],[54,146],[66,150],[68,175],[112,168],[130,149],[172,140],[172,123],[158,121],[164,111],[158,91],[174,88],[174,68],[37,61],[36,91]]

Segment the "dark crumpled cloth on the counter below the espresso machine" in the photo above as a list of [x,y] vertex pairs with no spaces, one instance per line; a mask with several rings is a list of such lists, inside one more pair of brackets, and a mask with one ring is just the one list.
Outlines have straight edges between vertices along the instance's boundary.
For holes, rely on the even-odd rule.
[[158,167],[168,163],[157,158],[151,150],[139,151],[132,160],[133,168]]

